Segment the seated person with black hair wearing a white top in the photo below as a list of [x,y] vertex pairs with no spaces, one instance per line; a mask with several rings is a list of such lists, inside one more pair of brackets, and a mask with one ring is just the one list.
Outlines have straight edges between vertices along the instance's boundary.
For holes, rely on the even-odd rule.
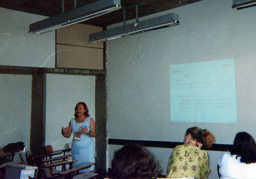
[[238,132],[230,153],[221,155],[218,174],[221,179],[256,178],[256,143],[247,132]]

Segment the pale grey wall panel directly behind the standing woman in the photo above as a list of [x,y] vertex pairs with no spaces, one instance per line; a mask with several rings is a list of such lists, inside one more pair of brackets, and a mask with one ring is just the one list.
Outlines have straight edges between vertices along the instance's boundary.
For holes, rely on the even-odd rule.
[[78,102],[87,104],[89,115],[95,121],[95,77],[47,74],[46,80],[45,145],[60,150],[72,141],[72,136],[68,139],[62,136],[61,128],[68,127],[74,118]]

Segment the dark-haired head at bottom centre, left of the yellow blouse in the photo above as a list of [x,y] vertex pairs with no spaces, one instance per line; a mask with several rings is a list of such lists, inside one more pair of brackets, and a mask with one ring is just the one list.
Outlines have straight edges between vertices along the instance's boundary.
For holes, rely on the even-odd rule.
[[138,144],[127,144],[115,151],[110,179],[153,179],[154,157]]

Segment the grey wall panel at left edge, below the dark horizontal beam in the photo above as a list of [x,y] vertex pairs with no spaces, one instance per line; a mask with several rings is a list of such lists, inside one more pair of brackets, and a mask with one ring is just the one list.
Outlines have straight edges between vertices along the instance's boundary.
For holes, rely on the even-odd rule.
[[30,148],[31,78],[0,74],[0,148],[19,141]]

